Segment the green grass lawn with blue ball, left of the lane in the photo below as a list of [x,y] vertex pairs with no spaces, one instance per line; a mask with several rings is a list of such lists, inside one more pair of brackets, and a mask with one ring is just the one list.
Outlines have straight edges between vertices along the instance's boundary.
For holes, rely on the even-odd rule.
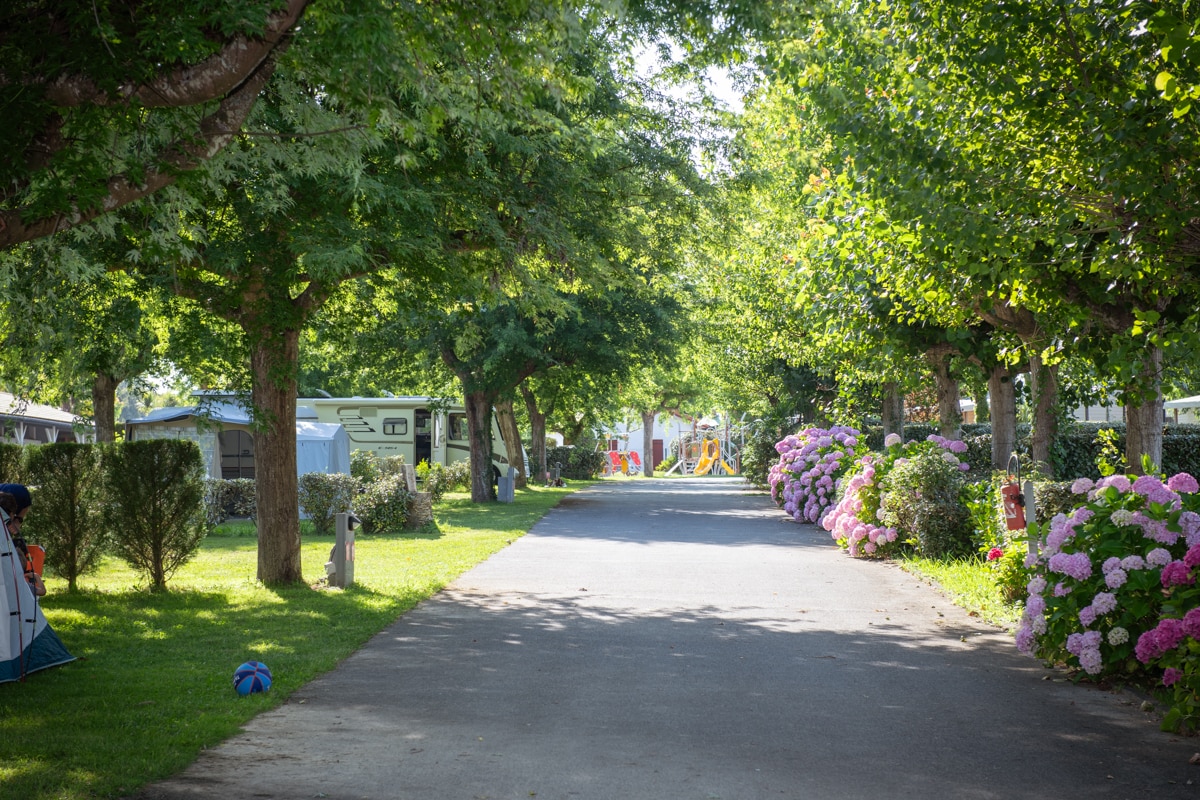
[[[302,566],[316,590],[264,588],[248,523],[208,537],[166,593],[115,560],[73,595],[49,578],[42,607],[78,661],[0,685],[0,795],[120,796],[178,772],[583,485],[520,491],[511,505],[450,494],[430,529],[359,536],[346,590],[320,585],[332,537],[307,528]],[[239,697],[233,672],[250,658],[271,668],[274,685]]]

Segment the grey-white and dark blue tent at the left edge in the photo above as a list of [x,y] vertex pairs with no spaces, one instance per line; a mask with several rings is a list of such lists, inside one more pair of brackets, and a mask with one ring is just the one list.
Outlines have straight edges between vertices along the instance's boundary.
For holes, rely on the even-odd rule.
[[0,524],[0,620],[8,620],[7,631],[0,634],[0,684],[24,680],[31,672],[74,661],[46,621],[25,581],[17,546],[4,524]]

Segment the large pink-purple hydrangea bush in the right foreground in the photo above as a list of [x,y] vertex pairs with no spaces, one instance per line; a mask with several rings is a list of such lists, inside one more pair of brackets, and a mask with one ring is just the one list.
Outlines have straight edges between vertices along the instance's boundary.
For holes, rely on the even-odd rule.
[[[1183,642],[1180,618],[1189,610],[1172,596],[1200,604],[1193,572],[1200,565],[1200,485],[1181,473],[1165,483],[1112,475],[1097,483],[1080,479],[1072,488],[1079,507],[1050,521],[1040,552],[1026,561],[1032,578],[1016,646],[1093,676],[1160,669],[1156,664]],[[1159,638],[1164,615],[1170,621]],[[1200,680],[1200,663],[1190,672]]]

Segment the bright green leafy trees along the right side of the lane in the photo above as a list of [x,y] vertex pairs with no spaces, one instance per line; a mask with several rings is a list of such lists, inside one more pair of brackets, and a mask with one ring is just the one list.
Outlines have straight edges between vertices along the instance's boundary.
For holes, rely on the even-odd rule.
[[947,435],[962,386],[986,392],[997,467],[1018,383],[1043,464],[1063,408],[1108,395],[1130,468],[1162,463],[1164,386],[1200,344],[1196,24],[1182,2],[833,0],[780,19],[709,281],[742,323],[730,341],[763,374],[808,371],[809,399],[869,398],[889,429],[917,386],[936,385]]

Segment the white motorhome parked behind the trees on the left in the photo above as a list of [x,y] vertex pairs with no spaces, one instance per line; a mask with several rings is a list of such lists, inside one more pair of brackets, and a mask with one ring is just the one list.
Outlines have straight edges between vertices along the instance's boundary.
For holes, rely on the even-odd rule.
[[[406,464],[427,461],[449,467],[470,458],[462,403],[444,407],[433,397],[301,397],[296,404],[312,408],[322,422],[340,422],[350,450],[403,456]],[[504,474],[508,464],[508,449],[493,416],[492,465]]]

